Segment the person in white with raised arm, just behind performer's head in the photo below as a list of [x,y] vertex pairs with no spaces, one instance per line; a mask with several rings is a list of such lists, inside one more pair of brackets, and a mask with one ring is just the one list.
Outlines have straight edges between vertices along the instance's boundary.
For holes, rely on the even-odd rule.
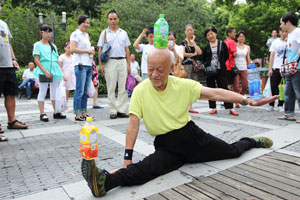
[[[143,37],[146,37],[148,44],[140,44]],[[135,48],[136,52],[143,52],[141,70],[142,80],[145,80],[148,78],[147,56],[150,50],[153,49],[153,28],[145,28],[135,40],[133,47]]]

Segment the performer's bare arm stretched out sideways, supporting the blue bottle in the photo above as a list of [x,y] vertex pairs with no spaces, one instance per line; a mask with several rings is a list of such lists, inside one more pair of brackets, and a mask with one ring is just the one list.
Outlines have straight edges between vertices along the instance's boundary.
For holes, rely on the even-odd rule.
[[228,102],[228,103],[239,103],[239,104],[247,104],[250,106],[262,106],[264,104],[270,103],[275,101],[279,98],[279,95],[265,98],[265,99],[259,99],[254,100],[250,98],[246,98],[243,95],[240,95],[238,93],[224,90],[221,88],[209,88],[209,87],[202,87],[200,99],[207,99],[212,101],[221,101],[221,102]]

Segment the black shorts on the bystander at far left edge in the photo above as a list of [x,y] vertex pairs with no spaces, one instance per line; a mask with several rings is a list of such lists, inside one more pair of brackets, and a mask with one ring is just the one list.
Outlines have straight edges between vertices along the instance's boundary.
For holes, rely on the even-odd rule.
[[0,68],[0,95],[15,96],[18,85],[15,68]]

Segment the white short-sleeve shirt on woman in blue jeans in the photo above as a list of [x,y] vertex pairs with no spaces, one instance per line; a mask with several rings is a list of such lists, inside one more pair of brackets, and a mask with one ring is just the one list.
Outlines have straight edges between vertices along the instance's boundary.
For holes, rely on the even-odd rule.
[[[91,49],[91,42],[89,39],[88,33],[83,33],[79,29],[76,29],[71,36],[70,41],[77,42],[77,48],[78,49]],[[90,58],[90,55],[88,53],[73,53],[73,63],[74,65],[78,65],[79,63],[82,63],[83,65],[92,66],[92,58]]]

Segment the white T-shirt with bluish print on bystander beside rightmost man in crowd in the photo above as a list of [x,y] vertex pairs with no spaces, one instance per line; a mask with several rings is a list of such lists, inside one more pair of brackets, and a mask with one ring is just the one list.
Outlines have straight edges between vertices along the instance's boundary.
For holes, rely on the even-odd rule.
[[283,56],[286,48],[286,41],[282,41],[281,39],[275,40],[271,47],[270,52],[274,52],[274,61],[273,61],[273,69],[279,69],[283,64]]

